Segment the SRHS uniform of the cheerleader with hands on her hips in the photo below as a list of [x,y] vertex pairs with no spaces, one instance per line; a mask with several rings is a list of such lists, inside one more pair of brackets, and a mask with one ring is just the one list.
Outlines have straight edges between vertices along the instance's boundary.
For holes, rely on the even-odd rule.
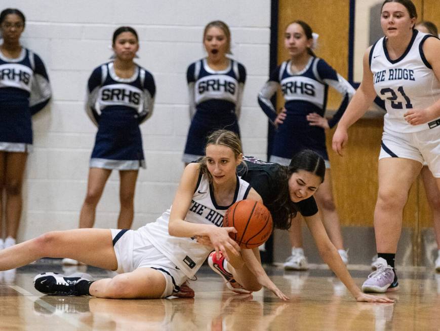
[[324,117],[329,86],[344,96],[338,111],[329,120],[332,128],[345,112],[354,89],[326,61],[310,57],[305,68],[297,73],[292,73],[291,61],[285,61],[271,73],[258,95],[258,103],[273,123],[277,114],[270,98],[281,87],[287,111],[284,123],[278,125],[273,138],[271,162],[289,165],[292,156],[309,149],[322,156],[330,168],[325,130],[311,126],[306,119],[310,113]]

